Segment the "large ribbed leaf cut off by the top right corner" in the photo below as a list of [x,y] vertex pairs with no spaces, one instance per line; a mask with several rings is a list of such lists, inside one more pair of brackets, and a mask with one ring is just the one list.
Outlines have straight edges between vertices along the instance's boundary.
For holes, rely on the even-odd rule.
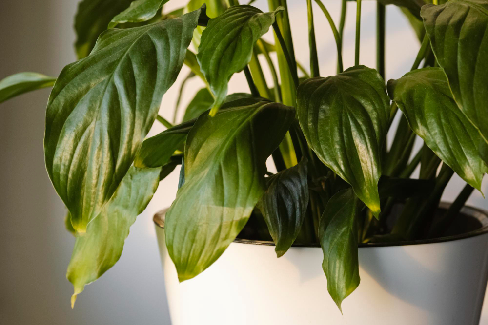
[[454,100],[488,140],[488,1],[429,4],[421,15]]

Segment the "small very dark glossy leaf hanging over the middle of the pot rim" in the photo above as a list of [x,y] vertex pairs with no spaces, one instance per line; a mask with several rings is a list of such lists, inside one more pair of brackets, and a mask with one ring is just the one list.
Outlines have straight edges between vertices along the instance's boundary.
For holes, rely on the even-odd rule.
[[268,189],[258,202],[278,257],[293,244],[308,206],[307,159],[266,178]]

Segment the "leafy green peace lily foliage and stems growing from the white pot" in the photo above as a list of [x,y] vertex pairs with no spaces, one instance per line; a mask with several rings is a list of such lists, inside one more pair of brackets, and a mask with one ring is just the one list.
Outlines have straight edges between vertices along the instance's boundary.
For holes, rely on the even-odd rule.
[[[321,0],[315,16],[303,0],[309,74],[294,55],[286,0],[269,0],[267,12],[253,1],[191,0],[169,13],[167,1],[83,0],[78,61],[57,78],[19,73],[0,81],[0,101],[53,87],[44,153],[76,236],[67,271],[72,304],[117,262],[129,227],[177,165],[164,231],[180,281],[210,267],[236,237],[272,239],[278,257],[294,243],[320,243],[339,308],[360,283],[359,243],[442,236],[473,189],[481,191],[488,0],[378,0],[376,69],[359,61],[361,0],[352,67],[341,54],[346,0],[338,26]],[[388,4],[402,7],[421,46],[411,71],[385,82]],[[330,58],[317,55],[318,16],[337,43],[335,76],[320,76],[319,59]],[[274,44],[262,39],[268,30]],[[163,95],[183,65],[206,87],[192,89],[183,120],[170,123],[158,111],[168,109]],[[228,94],[229,79],[242,71],[249,88]],[[160,122],[167,130],[146,138]],[[418,152],[416,135],[424,141]],[[268,157],[277,172],[267,170]],[[419,177],[410,178],[418,166]],[[454,173],[466,187],[434,222]]]

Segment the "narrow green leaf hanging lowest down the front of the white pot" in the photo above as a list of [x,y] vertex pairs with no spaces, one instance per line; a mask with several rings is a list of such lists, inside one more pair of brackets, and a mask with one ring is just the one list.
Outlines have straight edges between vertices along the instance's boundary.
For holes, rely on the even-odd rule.
[[327,202],[319,222],[327,291],[341,312],[342,301],[360,281],[357,217],[361,206],[351,188],[339,191]]

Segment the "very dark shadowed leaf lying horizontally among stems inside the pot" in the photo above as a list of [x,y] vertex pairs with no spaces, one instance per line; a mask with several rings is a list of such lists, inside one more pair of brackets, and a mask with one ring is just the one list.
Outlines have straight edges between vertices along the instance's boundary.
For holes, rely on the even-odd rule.
[[381,176],[378,192],[380,199],[392,197],[403,200],[413,196],[427,196],[434,190],[434,186],[432,180]]

